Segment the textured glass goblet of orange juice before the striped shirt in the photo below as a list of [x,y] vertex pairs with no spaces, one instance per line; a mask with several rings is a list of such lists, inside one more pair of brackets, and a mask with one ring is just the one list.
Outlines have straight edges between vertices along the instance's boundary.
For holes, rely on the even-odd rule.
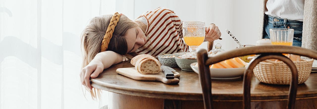
[[196,49],[205,40],[205,22],[188,21],[183,22],[183,37],[185,43],[196,52]]

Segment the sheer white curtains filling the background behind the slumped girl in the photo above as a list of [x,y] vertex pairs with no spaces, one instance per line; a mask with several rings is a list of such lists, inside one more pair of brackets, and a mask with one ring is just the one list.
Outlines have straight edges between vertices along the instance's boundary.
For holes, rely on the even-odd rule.
[[[247,4],[244,4],[247,3]],[[250,5],[251,4],[251,5]],[[80,34],[89,19],[120,12],[130,19],[166,7],[183,20],[215,23],[223,49],[258,36],[254,0],[0,0],[0,109],[98,109],[108,103],[84,97]],[[203,44],[200,48],[206,48]],[[89,94],[88,94],[89,95]]]

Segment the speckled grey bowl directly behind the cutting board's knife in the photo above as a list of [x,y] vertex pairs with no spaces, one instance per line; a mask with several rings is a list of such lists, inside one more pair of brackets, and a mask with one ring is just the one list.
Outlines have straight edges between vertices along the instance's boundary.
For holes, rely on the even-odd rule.
[[175,57],[178,57],[179,55],[174,55],[175,57],[167,57],[167,56],[173,56],[171,55],[159,55],[159,62],[164,65],[164,66],[169,66],[169,67],[177,67]]

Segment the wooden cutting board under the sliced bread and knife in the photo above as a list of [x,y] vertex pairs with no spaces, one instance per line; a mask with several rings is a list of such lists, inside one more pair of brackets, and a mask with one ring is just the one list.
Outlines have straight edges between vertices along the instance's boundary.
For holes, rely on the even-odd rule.
[[116,70],[117,73],[132,78],[134,80],[139,80],[139,81],[160,81],[165,84],[177,84],[179,83],[179,73],[178,72],[173,72],[175,78],[174,79],[166,79],[164,76],[164,73],[161,71],[157,74],[141,74],[137,70],[135,70],[134,67],[129,67],[129,68],[118,68]]

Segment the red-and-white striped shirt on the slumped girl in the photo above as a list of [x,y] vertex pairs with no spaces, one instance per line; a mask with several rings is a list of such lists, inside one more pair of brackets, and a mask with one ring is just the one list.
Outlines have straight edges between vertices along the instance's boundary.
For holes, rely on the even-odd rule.
[[140,17],[144,17],[147,21],[146,43],[137,49],[136,53],[157,57],[163,54],[189,51],[188,46],[181,39],[183,21],[173,10],[159,7]]

